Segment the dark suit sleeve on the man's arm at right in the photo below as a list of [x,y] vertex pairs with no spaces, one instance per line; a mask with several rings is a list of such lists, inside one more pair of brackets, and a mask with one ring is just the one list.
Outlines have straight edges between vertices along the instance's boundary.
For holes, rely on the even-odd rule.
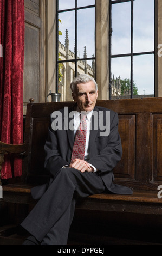
[[[103,143],[106,141],[106,143]],[[100,150],[98,150],[99,145]],[[118,133],[118,114],[115,113],[111,121],[110,133],[107,137],[98,137],[95,139],[93,147],[93,156],[88,162],[98,169],[98,174],[111,171],[116,164],[121,160],[122,145]]]

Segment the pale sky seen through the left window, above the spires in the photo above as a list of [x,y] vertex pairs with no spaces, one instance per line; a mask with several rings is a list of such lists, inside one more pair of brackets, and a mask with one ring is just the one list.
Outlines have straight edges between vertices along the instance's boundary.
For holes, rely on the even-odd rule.
[[[94,4],[94,0],[78,0],[78,7]],[[70,9],[75,7],[75,0],[59,0],[59,8]],[[74,52],[75,44],[75,11],[68,11],[67,13],[60,13],[59,30],[62,35],[59,36],[59,41],[64,44],[65,31],[68,29],[69,48]],[[81,9],[77,11],[77,50],[78,56],[83,58],[84,47],[87,49],[87,58],[91,58],[95,54],[95,9]]]

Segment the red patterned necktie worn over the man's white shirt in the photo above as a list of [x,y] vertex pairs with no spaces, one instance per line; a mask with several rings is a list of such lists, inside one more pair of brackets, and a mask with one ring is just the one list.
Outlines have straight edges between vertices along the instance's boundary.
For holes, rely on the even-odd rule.
[[79,158],[79,159],[85,158],[86,130],[87,130],[86,115],[82,115],[79,130],[77,130],[75,134],[71,162],[75,158]]

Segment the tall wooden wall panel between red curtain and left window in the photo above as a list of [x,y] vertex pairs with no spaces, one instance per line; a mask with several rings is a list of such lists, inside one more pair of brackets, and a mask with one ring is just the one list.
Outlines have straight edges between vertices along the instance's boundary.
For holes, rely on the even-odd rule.
[[45,102],[46,1],[25,0],[23,114],[29,99]]

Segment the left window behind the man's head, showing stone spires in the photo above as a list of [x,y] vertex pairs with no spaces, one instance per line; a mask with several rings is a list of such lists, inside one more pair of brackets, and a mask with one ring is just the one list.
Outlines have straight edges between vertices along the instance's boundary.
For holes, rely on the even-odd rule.
[[70,82],[95,76],[95,0],[57,0],[56,91],[72,100]]

